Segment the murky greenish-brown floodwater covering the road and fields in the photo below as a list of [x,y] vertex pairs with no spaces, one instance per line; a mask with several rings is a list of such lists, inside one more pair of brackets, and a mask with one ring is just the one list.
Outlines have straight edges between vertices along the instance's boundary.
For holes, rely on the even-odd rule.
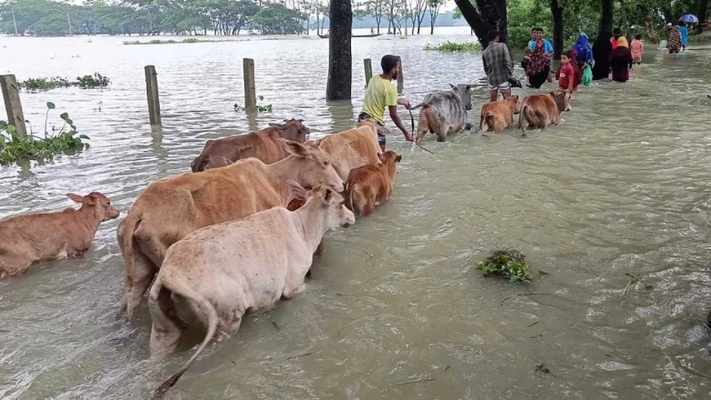
[[[188,172],[209,138],[290,117],[304,118],[315,137],[348,128],[361,106],[363,58],[377,69],[382,54],[401,55],[413,101],[450,83],[476,84],[475,121],[488,98],[478,55],[422,51],[467,35],[354,39],[352,103],[324,100],[325,40],[121,44],[134,39],[0,38],[12,54],[0,58],[0,73],[97,71],[112,81],[106,90],[22,92],[36,132],[53,101],[49,125],[67,111],[92,148],[0,170],[0,217],[65,207],[67,192],[92,190],[125,212],[149,182]],[[668,55],[649,45],[629,83],[581,88],[563,123],[525,138],[514,130],[430,137],[433,156],[389,137],[403,153],[392,199],[329,234],[307,292],[247,318],[169,396],[707,398],[709,50]],[[258,95],[274,106],[256,120],[233,109],[243,99],[244,57],[254,59]],[[162,131],[148,125],[149,64]],[[148,359],[145,301],[131,323],[117,317],[116,225],[101,226],[84,260],[0,282],[0,397],[146,397],[192,354],[199,333],[173,356]],[[499,248],[527,255],[531,284],[475,271]],[[652,288],[633,284],[623,296],[627,274]]]

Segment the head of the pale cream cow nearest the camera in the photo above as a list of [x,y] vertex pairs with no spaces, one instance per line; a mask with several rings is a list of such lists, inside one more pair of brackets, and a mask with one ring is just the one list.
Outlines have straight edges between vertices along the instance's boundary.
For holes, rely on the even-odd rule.
[[338,227],[347,228],[356,222],[356,215],[346,208],[343,196],[340,196],[332,188],[318,185],[310,191],[306,191],[297,182],[290,180],[288,183],[294,197],[306,202],[302,208],[313,207],[314,210],[326,213],[326,230]]

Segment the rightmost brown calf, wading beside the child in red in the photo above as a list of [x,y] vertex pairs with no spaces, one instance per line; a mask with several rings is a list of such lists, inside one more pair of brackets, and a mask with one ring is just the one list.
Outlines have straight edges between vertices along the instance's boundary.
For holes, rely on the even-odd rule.
[[570,101],[571,94],[562,91],[524,97],[521,115],[518,116],[518,129],[525,135],[526,130],[543,131],[548,125],[557,125],[561,120],[561,113],[571,110]]

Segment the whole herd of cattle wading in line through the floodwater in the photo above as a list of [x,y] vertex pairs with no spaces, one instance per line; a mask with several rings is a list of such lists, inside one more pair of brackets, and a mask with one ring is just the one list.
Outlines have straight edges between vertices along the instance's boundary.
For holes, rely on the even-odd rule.
[[[550,92],[488,103],[479,128],[501,132],[520,113],[520,129],[543,129],[558,123],[569,100],[567,93]],[[417,107],[417,140],[427,132],[444,140],[471,127],[467,85],[452,85]],[[208,140],[193,172],[157,180],[140,194],[117,229],[125,265],[121,312],[131,318],[150,289],[152,356],[174,351],[188,325],[207,327],[196,353],[156,397],[216,334],[236,332],[246,313],[301,292],[326,232],[387,201],[401,156],[381,151],[378,132],[387,129],[366,120],[308,140],[308,128],[292,119]],[[98,192],[68,197],[81,207],[0,221],[0,278],[24,273],[37,260],[83,256],[100,223],[119,216]]]

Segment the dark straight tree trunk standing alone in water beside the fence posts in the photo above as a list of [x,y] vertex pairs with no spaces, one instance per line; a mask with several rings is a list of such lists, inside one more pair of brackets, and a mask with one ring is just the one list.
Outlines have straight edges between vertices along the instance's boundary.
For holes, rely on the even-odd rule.
[[351,0],[331,0],[329,20],[326,100],[350,100],[353,67],[350,52],[353,25]]

